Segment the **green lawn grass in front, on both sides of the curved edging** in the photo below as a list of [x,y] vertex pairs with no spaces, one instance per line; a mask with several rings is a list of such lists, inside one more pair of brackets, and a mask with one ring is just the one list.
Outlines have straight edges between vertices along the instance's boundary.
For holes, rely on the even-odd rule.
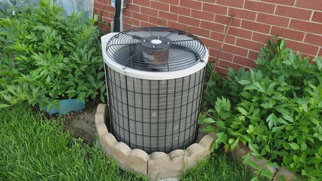
[[[46,120],[30,106],[0,109],[0,180],[147,180],[119,169],[97,146],[73,138],[62,120]],[[250,180],[222,151],[184,172],[182,180]]]

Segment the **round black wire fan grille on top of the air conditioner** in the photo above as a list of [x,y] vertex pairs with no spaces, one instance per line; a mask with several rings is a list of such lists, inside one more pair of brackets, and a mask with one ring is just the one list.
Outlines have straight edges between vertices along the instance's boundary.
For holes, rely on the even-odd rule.
[[137,28],[118,33],[106,46],[115,62],[136,70],[174,71],[203,61],[206,50],[194,35],[171,28]]

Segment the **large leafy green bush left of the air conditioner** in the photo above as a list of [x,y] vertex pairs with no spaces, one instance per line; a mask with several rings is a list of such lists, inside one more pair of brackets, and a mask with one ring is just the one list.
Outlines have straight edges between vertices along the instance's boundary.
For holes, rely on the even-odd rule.
[[0,98],[49,107],[56,100],[82,102],[106,93],[99,30],[81,13],[64,16],[51,0],[35,10],[0,19]]

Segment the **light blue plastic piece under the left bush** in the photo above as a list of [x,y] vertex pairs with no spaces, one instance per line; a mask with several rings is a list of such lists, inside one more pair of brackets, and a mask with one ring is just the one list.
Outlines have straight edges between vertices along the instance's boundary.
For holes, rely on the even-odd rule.
[[40,110],[46,111],[49,115],[52,115],[54,113],[60,113],[62,115],[66,115],[70,111],[80,112],[85,109],[85,104],[76,99],[61,100],[59,105],[60,105],[59,109],[53,106],[50,110],[48,110],[48,106],[46,106],[42,109],[40,108]]

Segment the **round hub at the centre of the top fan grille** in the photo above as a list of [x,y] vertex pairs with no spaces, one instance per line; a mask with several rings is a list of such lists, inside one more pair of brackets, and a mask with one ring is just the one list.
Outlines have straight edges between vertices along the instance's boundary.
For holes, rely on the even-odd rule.
[[169,47],[172,42],[169,38],[163,36],[150,36],[141,40],[141,44],[147,48],[164,49]]

